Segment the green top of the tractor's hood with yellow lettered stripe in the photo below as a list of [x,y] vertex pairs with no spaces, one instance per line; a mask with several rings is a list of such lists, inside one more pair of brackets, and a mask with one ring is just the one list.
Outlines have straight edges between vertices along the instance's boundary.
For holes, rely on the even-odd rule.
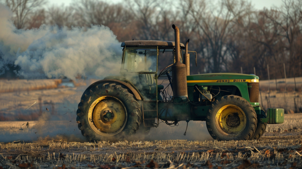
[[251,79],[259,80],[259,77],[252,75],[252,74],[239,74],[239,73],[209,73],[209,74],[196,74],[196,75],[187,76],[187,81],[191,81],[191,80],[211,80],[211,81],[212,80],[230,80],[229,82],[236,82],[236,80],[246,80],[248,82]]

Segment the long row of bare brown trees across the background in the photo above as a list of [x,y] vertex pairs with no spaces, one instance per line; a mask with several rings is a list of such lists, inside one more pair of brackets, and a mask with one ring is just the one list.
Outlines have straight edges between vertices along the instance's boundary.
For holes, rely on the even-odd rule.
[[[101,0],[74,1],[45,7],[46,0],[6,0],[18,29],[109,27],[120,42],[132,39],[174,41],[172,24],[181,42],[190,38],[191,74],[211,72],[254,74],[262,79],[302,76],[302,0],[284,0],[280,7],[255,10],[249,1]],[[159,64],[163,64],[160,62]],[[166,63],[166,62],[165,62]]]

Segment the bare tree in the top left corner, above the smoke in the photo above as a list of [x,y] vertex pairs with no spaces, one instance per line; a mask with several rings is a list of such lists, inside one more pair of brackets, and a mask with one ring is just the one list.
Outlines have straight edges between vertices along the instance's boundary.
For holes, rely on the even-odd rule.
[[5,0],[5,4],[14,14],[13,20],[17,29],[25,28],[30,20],[29,15],[45,3],[46,0]]

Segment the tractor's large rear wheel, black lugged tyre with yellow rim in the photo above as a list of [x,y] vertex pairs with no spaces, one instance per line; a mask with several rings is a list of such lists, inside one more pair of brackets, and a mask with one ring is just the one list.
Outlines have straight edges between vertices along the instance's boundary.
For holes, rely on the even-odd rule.
[[82,95],[77,122],[88,141],[123,140],[139,128],[140,105],[122,86],[100,84]]

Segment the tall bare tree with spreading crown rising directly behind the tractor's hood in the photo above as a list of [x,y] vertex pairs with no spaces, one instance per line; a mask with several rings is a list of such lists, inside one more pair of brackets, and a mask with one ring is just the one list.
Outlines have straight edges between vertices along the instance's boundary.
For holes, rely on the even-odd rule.
[[221,1],[217,8],[205,0],[185,2],[198,26],[196,33],[202,49],[200,54],[207,61],[207,72],[227,71],[230,50],[227,43],[231,40],[229,38],[233,35],[237,19],[250,11],[250,4],[243,1]]

